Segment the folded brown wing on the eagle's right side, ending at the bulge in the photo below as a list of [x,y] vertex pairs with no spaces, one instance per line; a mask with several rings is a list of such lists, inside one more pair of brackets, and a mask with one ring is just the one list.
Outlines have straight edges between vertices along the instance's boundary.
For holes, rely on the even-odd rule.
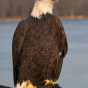
[[60,19],[56,20],[56,24],[57,24],[57,39],[59,37],[58,41],[58,47],[60,51],[59,55],[61,59],[63,59],[68,51],[67,37]]

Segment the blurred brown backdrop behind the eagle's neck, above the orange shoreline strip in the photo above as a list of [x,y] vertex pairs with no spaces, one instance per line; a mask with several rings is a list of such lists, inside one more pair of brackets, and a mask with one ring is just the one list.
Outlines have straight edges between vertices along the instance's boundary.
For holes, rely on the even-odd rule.
[[[0,17],[27,16],[34,0],[0,0]],[[88,0],[59,0],[54,10],[59,16],[88,16]]]

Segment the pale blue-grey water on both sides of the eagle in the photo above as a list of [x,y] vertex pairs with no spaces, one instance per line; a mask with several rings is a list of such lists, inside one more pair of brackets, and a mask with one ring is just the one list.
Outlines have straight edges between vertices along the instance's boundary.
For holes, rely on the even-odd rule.
[[[18,22],[0,22],[0,85],[13,87],[12,37]],[[88,88],[88,20],[64,20],[69,51],[58,83],[63,88]]]

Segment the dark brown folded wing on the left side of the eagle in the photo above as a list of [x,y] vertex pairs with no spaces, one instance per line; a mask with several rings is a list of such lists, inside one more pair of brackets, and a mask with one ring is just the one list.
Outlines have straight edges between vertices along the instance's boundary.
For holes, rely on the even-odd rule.
[[[20,54],[21,48],[24,41],[24,35],[26,29],[24,28],[24,22],[20,22],[14,32],[12,40],[12,57],[13,57],[13,74],[14,74],[14,84],[17,83],[17,75],[19,75],[19,65],[20,65]],[[24,30],[25,29],[25,30]]]

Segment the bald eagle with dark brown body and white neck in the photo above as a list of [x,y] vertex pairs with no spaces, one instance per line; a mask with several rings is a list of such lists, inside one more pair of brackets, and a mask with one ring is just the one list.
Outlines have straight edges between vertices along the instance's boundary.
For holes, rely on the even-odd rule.
[[19,22],[12,40],[14,84],[30,80],[56,82],[68,50],[60,18],[53,15],[54,0],[37,0],[28,18]]

